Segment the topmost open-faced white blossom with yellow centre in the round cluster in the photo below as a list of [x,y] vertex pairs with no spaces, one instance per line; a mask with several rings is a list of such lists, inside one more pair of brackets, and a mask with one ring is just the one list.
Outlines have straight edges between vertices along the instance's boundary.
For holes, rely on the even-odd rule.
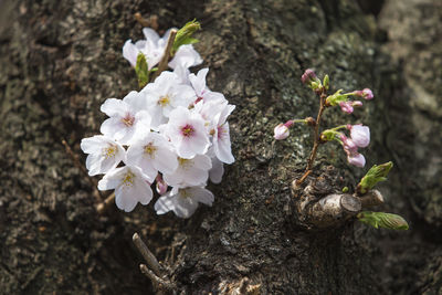
[[177,74],[168,71],[162,72],[154,83],[147,84],[141,94],[152,115],[152,128],[165,124],[176,107],[188,107],[196,99],[192,87],[180,84]]

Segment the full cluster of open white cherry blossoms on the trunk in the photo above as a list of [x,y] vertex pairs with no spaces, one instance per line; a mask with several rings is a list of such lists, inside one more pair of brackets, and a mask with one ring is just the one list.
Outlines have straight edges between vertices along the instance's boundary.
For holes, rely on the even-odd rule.
[[[143,54],[148,70],[156,71],[170,30],[162,38],[148,28],[143,32],[145,40],[126,41],[123,56],[135,67]],[[223,164],[234,161],[228,117],[235,106],[207,87],[209,69],[190,73],[189,67],[201,63],[192,44],[180,45],[168,63],[173,71],[164,71],[139,92],[108,98],[101,106],[108,116],[102,134],[84,138],[81,148],[88,154],[90,176],[104,175],[98,189],[114,189],[120,210],[148,204],[154,182],[160,194],[157,214],[173,211],[189,218],[199,203],[212,204],[208,180],[221,182]]]

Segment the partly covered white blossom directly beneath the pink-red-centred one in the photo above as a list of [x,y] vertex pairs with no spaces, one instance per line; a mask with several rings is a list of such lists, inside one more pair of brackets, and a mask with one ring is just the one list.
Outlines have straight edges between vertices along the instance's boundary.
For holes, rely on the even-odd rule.
[[165,181],[171,187],[203,186],[209,178],[212,161],[206,155],[192,159],[178,158],[178,168],[172,173],[164,173]]

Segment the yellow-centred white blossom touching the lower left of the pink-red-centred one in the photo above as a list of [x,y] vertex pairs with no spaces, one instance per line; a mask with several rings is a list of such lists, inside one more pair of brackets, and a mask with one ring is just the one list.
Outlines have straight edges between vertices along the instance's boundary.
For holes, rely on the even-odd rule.
[[177,154],[164,135],[146,133],[134,141],[127,149],[127,165],[141,168],[150,179],[155,179],[158,171],[172,173],[178,168]]

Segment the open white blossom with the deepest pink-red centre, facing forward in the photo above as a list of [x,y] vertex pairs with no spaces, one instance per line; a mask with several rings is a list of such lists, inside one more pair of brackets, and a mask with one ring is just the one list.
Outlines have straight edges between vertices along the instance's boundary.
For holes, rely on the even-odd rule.
[[165,134],[171,140],[178,156],[185,159],[206,154],[210,146],[201,115],[182,106],[170,113]]

